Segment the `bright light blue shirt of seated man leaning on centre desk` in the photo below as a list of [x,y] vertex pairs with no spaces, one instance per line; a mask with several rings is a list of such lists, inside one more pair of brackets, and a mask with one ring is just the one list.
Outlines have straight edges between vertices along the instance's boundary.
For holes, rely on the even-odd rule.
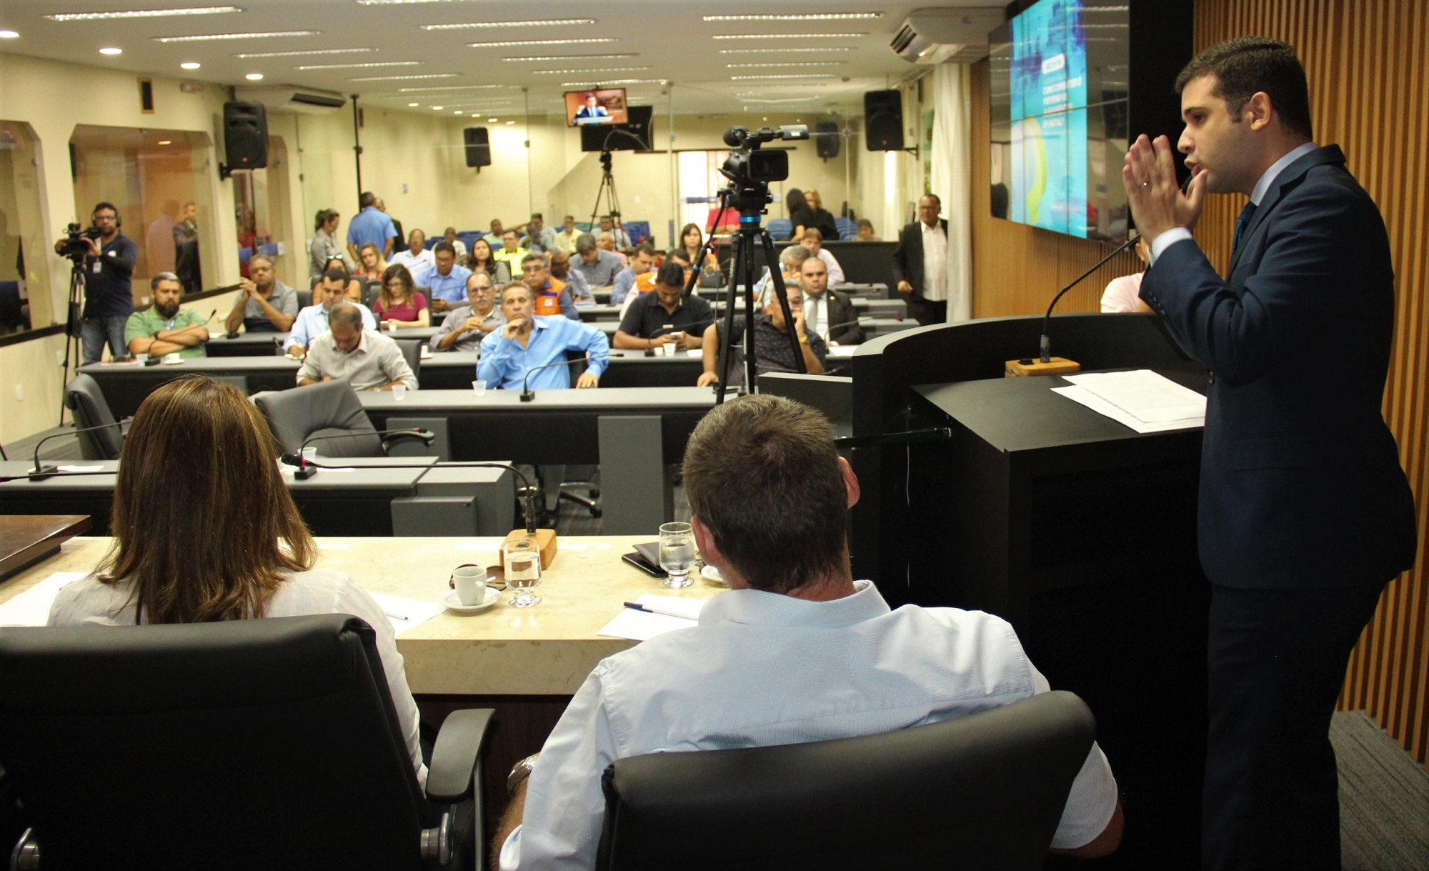
[[[584,351],[590,357],[587,371],[597,378],[610,364],[610,341],[596,327],[567,317],[536,317],[526,347],[514,338],[506,338],[502,331],[482,340],[482,360],[476,364],[476,377],[489,387],[520,390],[526,371],[566,358],[566,351]],[[570,367],[552,366],[532,373],[533,390],[570,387]]]

